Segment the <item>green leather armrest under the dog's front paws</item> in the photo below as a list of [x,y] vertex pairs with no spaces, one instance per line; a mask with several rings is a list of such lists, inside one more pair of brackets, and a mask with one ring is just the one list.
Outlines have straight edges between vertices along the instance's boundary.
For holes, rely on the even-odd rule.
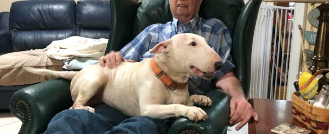
[[174,121],[168,134],[226,134],[230,120],[231,97],[218,90],[211,90],[206,96],[212,100],[212,106],[201,108],[208,114],[209,119],[193,122],[181,117]]

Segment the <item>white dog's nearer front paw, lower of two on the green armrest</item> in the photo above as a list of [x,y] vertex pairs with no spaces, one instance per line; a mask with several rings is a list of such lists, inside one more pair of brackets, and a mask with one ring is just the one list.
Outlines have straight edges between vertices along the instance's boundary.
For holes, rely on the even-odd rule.
[[207,113],[204,110],[202,110],[200,107],[196,107],[196,106],[189,106],[186,109],[185,117],[195,122],[201,120],[205,121],[206,119],[208,119]]

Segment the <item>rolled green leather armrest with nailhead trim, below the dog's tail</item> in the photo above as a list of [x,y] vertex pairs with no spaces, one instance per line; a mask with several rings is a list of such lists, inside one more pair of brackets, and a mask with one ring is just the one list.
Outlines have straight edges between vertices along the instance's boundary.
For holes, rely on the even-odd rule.
[[19,134],[39,134],[57,113],[72,104],[70,81],[58,78],[15,92],[10,110],[23,122]]

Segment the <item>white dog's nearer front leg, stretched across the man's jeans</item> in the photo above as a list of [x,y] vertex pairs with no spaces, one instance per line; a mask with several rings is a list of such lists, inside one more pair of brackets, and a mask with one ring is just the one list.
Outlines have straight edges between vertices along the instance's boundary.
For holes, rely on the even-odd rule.
[[149,104],[141,107],[141,115],[153,118],[170,118],[184,116],[192,121],[206,120],[207,113],[200,107],[182,104]]

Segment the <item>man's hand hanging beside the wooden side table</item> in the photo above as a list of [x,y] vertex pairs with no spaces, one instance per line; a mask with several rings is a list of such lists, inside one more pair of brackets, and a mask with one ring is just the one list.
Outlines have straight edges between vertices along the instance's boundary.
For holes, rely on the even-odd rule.
[[230,125],[239,123],[236,130],[242,128],[250,118],[253,117],[258,122],[258,115],[250,105],[250,103],[243,97],[232,97],[231,99],[231,114],[230,114]]

